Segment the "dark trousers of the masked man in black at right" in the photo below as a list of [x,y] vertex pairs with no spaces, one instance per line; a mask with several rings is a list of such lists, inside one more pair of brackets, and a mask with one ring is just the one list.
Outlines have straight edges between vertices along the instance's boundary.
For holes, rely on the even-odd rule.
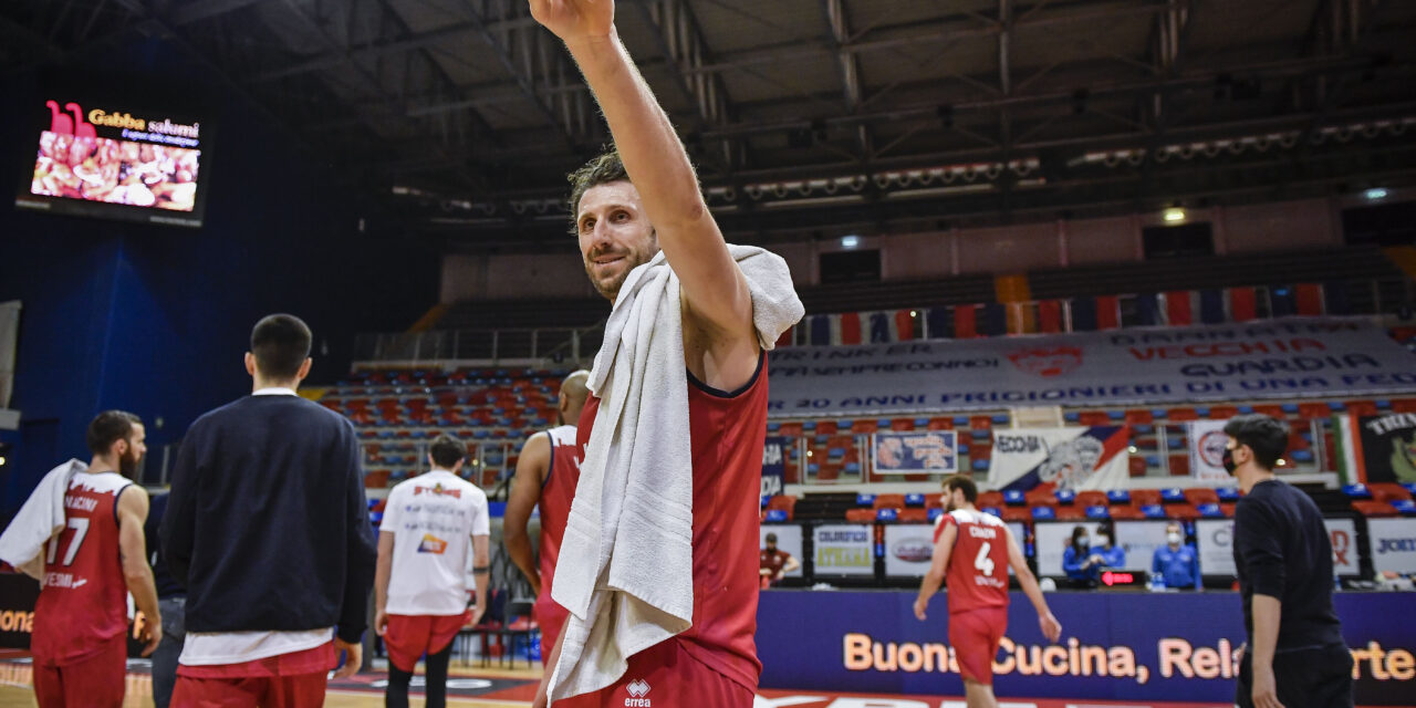
[[[1253,708],[1252,657],[1245,651],[1239,666],[1239,708]],[[1283,708],[1352,708],[1352,654],[1344,646],[1280,651],[1273,656],[1273,681]]]

